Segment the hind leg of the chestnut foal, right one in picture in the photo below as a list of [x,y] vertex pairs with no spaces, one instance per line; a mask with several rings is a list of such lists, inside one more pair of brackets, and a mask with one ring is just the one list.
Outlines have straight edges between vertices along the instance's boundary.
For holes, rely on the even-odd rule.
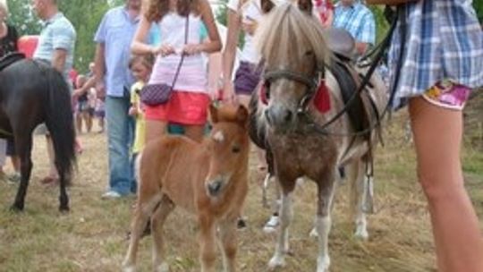
[[163,225],[175,206],[172,200],[163,196],[161,203],[151,217],[151,229],[153,234],[153,266],[156,272],[167,272],[169,267],[165,262],[165,248],[163,239]]

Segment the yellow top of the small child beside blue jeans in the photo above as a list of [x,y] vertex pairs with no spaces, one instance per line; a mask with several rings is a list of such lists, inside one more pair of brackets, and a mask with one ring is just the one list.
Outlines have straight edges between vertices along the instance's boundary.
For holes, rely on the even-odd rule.
[[131,105],[136,105],[138,115],[136,115],[136,132],[134,134],[134,142],[132,143],[132,153],[139,153],[144,148],[144,139],[146,133],[146,120],[140,101],[140,92],[144,87],[144,82],[138,81],[131,86]]

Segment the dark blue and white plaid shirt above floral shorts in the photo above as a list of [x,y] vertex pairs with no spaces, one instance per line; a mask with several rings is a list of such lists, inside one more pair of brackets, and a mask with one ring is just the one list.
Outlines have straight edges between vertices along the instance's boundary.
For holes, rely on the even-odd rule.
[[[421,95],[444,79],[483,86],[483,35],[471,0],[425,0],[403,8],[408,24],[396,99]],[[400,27],[389,52],[392,82],[398,72]]]

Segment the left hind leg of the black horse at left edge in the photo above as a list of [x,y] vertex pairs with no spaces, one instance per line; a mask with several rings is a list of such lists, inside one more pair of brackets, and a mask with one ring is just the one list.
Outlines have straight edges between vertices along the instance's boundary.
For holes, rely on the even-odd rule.
[[31,130],[30,132],[15,133],[15,147],[21,158],[21,183],[15,201],[13,202],[12,209],[23,210],[25,195],[27,194],[27,187],[29,187],[30,173],[33,166],[30,157],[32,150]]

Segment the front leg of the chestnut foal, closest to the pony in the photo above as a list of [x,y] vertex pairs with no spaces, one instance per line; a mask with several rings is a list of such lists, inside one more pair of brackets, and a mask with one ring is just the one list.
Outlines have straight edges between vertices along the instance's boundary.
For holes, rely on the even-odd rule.
[[220,223],[220,240],[223,249],[224,271],[233,272],[236,270],[236,216],[227,217]]

